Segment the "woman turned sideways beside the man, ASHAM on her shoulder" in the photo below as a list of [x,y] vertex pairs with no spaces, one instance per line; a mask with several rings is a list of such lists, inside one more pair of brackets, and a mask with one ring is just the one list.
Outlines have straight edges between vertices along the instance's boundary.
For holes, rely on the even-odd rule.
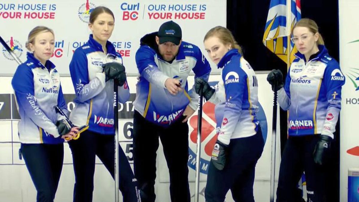
[[206,201],[223,202],[230,189],[234,201],[254,202],[255,166],[264,147],[257,119],[257,77],[229,29],[210,29],[204,46],[222,70],[222,81],[215,88],[203,79],[195,80],[196,92],[216,104],[218,138],[208,169]]

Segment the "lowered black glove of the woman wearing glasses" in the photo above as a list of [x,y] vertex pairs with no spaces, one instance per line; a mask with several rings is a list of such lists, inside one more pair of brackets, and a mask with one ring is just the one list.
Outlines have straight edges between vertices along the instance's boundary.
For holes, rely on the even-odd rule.
[[313,158],[316,164],[323,165],[323,163],[327,159],[327,153],[330,149],[331,141],[332,138],[329,136],[326,135],[320,136],[320,139],[318,140],[313,151]]

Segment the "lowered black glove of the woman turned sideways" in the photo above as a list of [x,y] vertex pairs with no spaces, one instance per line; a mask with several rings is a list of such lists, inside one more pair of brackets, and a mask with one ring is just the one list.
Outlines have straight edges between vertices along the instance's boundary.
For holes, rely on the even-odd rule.
[[227,161],[227,153],[228,146],[220,142],[216,141],[214,144],[214,148],[212,151],[212,163],[214,167],[218,170],[223,170]]

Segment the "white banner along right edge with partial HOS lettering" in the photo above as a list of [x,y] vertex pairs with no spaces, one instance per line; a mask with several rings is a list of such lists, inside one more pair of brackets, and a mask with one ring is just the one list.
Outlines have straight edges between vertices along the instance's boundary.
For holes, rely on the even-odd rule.
[[[359,114],[358,9],[359,1],[339,0],[340,67],[346,77],[340,113],[340,201],[348,202],[359,201],[359,136],[355,126]],[[350,177],[351,189],[349,175],[356,175]]]

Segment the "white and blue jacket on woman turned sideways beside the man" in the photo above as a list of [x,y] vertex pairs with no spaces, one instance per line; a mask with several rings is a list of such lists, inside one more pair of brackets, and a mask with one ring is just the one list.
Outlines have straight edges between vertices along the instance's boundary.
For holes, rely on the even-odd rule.
[[229,50],[218,63],[221,77],[209,102],[216,104],[218,140],[250,137],[257,133],[258,80],[251,65],[238,53]]

